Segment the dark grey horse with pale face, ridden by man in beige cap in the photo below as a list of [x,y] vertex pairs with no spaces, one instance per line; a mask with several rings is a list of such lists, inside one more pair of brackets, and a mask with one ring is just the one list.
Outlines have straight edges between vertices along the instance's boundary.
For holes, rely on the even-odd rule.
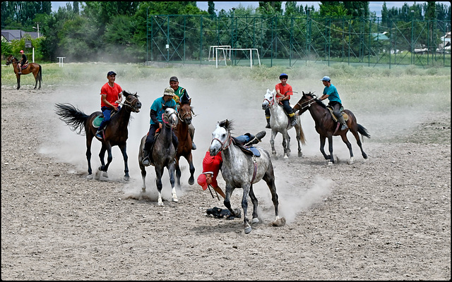
[[[153,148],[151,149],[153,154],[154,164],[151,164],[155,167],[155,176],[157,177],[155,180],[155,184],[157,185],[158,192],[158,200],[157,204],[159,206],[163,205],[162,202],[162,175],[163,170],[166,167],[169,174],[169,183],[172,188],[172,202],[179,202],[176,195],[176,188],[174,188],[174,171],[175,171],[175,157],[176,157],[176,148],[172,144],[172,130],[176,128],[178,120],[177,120],[177,111],[171,107],[163,106],[165,112],[162,116],[162,121],[164,125],[162,126],[160,133],[155,136]],[[143,187],[141,188],[142,192],[146,190],[146,168],[143,165],[144,156],[144,145],[146,142],[147,135],[144,135],[141,138],[140,149],[138,149],[138,165],[141,169],[141,177],[143,178]]]

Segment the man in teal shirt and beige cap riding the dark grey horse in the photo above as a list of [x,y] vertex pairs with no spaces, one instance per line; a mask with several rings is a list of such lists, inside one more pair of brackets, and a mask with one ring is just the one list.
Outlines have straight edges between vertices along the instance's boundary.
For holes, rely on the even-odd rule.
[[[142,164],[144,166],[150,165],[150,149],[154,144],[155,131],[157,130],[157,128],[160,128],[161,130],[163,125],[162,114],[165,112],[163,106],[176,109],[176,102],[174,101],[173,97],[174,90],[171,87],[167,87],[165,89],[165,92],[163,92],[163,97],[155,99],[153,104],[150,106],[150,126],[148,137],[146,137],[146,142],[143,148],[144,159],[142,161]],[[172,130],[172,144],[174,145],[174,149],[177,150],[179,140],[177,140],[177,136],[174,133],[174,130]]]

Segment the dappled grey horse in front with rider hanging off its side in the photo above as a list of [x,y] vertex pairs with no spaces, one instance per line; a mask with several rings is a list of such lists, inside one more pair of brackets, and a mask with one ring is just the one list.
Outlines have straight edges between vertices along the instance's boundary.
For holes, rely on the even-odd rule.
[[271,200],[275,207],[275,221],[272,224],[273,226],[283,226],[285,224],[285,218],[278,216],[278,194],[276,193],[275,173],[270,154],[265,149],[257,146],[256,149],[260,153],[259,157],[256,157],[254,154],[245,154],[233,142],[231,137],[232,123],[232,121],[228,120],[217,123],[212,133],[212,142],[209,147],[211,156],[215,156],[219,152],[222,154],[223,163],[221,172],[226,182],[225,207],[230,210],[232,216],[240,216],[237,209],[232,209],[230,197],[236,188],[243,188],[242,209],[244,214],[244,232],[246,234],[250,233],[251,225],[249,224],[248,216],[246,216],[248,209],[247,197],[249,195],[253,203],[253,219],[251,223],[258,223],[258,200],[256,195],[254,195],[253,184],[263,179],[267,183],[268,189],[270,189]]

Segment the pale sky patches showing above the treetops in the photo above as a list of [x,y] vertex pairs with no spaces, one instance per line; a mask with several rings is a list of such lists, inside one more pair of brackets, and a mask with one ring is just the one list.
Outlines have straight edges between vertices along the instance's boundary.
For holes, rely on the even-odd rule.
[[[58,8],[60,6],[65,7],[66,6],[66,1],[61,1],[61,2],[52,2],[52,11],[58,11]],[[309,5],[312,6],[314,5],[314,8],[316,8],[316,10],[319,10],[319,1],[298,1],[297,5]],[[423,4],[425,3],[425,1],[386,1],[386,6],[388,8],[392,8],[392,7],[397,7],[397,8],[401,8],[403,6],[403,4],[408,4],[408,6],[411,6],[414,3],[417,4]],[[441,3],[447,6],[451,6],[451,2],[450,1],[436,1],[436,3]],[[198,8],[200,8],[203,11],[207,11],[208,9],[208,1],[197,1],[196,2]],[[238,7],[239,5],[242,5],[244,8],[247,8],[249,6],[253,7],[253,8],[257,8],[259,5],[258,1],[215,1],[215,9],[217,11],[221,11],[221,9],[225,10],[225,11],[229,11],[231,8],[233,7]],[[285,2],[283,2],[283,8],[285,7]],[[371,1],[369,2],[369,9],[371,12],[375,12],[377,17],[381,17],[381,7],[383,7],[383,1]]]

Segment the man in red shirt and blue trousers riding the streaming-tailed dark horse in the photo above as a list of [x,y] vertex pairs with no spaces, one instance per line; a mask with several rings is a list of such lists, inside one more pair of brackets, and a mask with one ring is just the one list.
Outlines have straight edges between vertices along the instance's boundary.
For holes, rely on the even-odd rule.
[[99,139],[102,139],[102,130],[109,123],[112,111],[119,111],[121,109],[119,103],[122,101],[122,88],[114,82],[116,80],[116,73],[109,71],[107,73],[107,79],[108,82],[100,89],[100,94],[102,95],[100,99],[100,110],[104,114],[104,120],[100,123],[95,134]]

